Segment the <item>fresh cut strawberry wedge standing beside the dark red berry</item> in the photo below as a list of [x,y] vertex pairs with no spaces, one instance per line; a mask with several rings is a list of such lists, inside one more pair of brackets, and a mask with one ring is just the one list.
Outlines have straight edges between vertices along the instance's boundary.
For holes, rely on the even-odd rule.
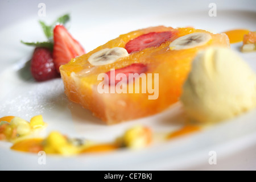
[[72,58],[85,53],[80,43],[60,24],[53,30],[53,40],[53,61],[58,72],[60,65],[67,64]]

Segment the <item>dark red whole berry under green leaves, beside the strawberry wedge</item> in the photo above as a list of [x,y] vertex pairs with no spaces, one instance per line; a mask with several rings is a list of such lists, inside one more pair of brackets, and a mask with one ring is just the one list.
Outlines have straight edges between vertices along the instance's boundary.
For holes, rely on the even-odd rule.
[[36,81],[46,81],[59,76],[53,63],[52,52],[44,47],[35,48],[30,70]]

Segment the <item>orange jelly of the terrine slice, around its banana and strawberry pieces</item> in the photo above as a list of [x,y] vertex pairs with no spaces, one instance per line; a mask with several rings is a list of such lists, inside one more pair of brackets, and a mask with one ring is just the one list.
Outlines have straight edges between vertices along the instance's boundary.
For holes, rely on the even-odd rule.
[[[150,32],[171,31],[174,36],[156,47],[144,48],[141,51],[130,53],[121,57],[112,64],[93,66],[88,58],[101,49],[121,47],[130,40]],[[175,39],[195,32],[210,34],[211,39],[204,45],[194,48],[174,50],[169,45]],[[191,62],[196,53],[209,46],[229,47],[229,40],[225,34],[212,34],[195,28],[149,27],[120,35],[108,43],[97,47],[93,51],[77,57],[68,64],[61,65],[60,73],[64,82],[65,94],[69,100],[79,103],[82,107],[92,111],[93,115],[102,119],[107,124],[119,123],[135,118],[159,113],[170,105],[179,101],[182,86],[191,69]],[[147,66],[145,72],[154,77],[158,74],[158,80],[152,80],[152,85],[157,86],[158,98],[148,99],[151,93],[99,93],[97,80],[100,73],[109,72],[110,69],[119,69],[128,65],[140,63]],[[148,81],[148,80],[147,80]],[[129,84],[127,84],[129,85]],[[129,85],[130,86],[130,85]],[[142,88],[140,83],[139,88]]]

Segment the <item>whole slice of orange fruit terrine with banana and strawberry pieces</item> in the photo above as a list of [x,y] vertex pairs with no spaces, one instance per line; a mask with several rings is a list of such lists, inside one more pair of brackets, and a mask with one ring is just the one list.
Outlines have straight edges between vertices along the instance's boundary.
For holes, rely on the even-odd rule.
[[225,34],[149,27],[61,65],[65,94],[107,124],[159,113],[179,101],[196,53],[229,47]]

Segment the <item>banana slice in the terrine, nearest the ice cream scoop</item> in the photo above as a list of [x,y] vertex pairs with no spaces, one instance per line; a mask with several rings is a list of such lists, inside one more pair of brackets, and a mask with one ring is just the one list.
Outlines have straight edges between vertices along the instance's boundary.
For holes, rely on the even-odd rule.
[[210,34],[197,32],[175,39],[170,43],[169,47],[171,50],[189,49],[197,46],[203,46],[210,39],[212,39]]

